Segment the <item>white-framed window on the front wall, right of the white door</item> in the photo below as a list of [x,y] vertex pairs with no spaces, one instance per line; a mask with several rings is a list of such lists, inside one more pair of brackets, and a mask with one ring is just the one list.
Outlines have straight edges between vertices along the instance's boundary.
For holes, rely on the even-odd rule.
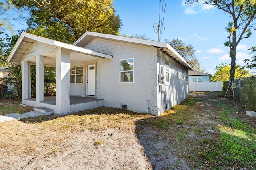
[[134,83],[134,58],[120,59],[120,83]]

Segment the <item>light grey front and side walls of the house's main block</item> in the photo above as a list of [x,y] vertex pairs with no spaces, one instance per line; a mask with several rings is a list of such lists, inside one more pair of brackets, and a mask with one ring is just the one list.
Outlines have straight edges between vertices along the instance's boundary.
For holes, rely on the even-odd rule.
[[[85,48],[113,56],[112,60],[100,59],[97,68],[97,98],[104,99],[107,107],[127,105],[129,110],[146,113],[149,104],[149,112],[160,115],[188,97],[188,69],[154,47],[95,38]],[[134,83],[122,84],[119,83],[120,59],[128,58],[134,58]],[[170,62],[170,83],[160,93],[158,74],[165,59]]]

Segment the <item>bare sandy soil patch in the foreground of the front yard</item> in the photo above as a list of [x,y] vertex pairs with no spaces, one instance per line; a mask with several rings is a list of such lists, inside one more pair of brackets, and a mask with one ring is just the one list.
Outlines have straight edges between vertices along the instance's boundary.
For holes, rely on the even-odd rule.
[[[153,132],[154,133],[154,132]],[[14,170],[151,170],[162,169],[164,164],[173,165],[178,162],[181,169],[190,169],[184,160],[171,153],[164,156],[154,156],[155,150],[164,147],[162,142],[144,141],[140,144],[134,133],[124,133],[120,130],[104,130],[102,132],[77,132],[58,135],[62,139],[58,145],[37,148],[33,153],[17,156],[7,156],[8,148],[0,149],[0,169]],[[97,144],[97,140],[102,144]],[[45,142],[45,141],[44,141]],[[15,151],[14,151],[15,152]],[[148,155],[147,155],[148,154]],[[171,166],[170,166],[171,167]]]

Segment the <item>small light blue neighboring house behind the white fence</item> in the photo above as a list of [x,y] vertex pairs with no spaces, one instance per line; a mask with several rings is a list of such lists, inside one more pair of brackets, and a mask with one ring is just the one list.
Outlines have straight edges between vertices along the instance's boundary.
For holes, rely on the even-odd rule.
[[188,71],[189,82],[210,82],[211,74],[200,71]]

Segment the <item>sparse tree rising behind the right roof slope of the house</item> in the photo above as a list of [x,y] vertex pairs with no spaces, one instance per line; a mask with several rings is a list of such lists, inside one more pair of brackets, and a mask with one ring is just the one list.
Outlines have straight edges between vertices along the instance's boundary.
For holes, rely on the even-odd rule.
[[196,50],[194,50],[192,45],[186,45],[178,38],[175,38],[170,42],[165,39],[165,42],[169,43],[196,71],[204,72],[206,70],[196,59]]

